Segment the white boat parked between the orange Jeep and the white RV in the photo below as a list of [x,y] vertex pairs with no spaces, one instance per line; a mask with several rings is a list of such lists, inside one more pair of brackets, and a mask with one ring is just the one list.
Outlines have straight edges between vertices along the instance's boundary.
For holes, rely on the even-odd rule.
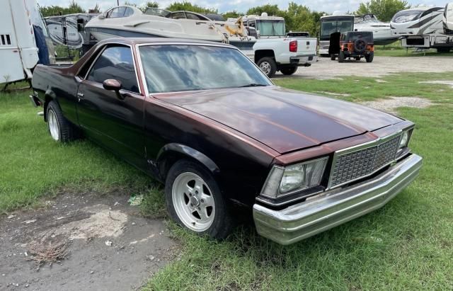
[[398,40],[398,36],[391,34],[390,23],[379,21],[374,14],[355,16],[354,30],[372,31],[374,45],[389,45]]

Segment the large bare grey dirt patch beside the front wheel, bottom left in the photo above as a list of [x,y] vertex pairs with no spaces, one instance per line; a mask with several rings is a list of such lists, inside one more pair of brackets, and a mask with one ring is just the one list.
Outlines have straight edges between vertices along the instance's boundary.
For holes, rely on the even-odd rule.
[[71,193],[0,217],[0,290],[132,290],[178,253],[128,195]]

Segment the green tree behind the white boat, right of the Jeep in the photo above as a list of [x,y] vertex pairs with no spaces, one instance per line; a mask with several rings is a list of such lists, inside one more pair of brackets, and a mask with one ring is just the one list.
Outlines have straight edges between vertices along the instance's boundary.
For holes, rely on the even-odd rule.
[[355,15],[374,14],[380,21],[390,21],[396,12],[410,8],[405,0],[370,0],[361,3]]

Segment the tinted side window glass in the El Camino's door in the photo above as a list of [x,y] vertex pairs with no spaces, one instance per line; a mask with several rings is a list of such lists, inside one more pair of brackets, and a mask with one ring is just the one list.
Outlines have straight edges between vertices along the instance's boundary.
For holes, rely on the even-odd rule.
[[139,93],[130,47],[107,47],[86,79],[100,84],[106,79],[116,79],[121,82],[122,89]]

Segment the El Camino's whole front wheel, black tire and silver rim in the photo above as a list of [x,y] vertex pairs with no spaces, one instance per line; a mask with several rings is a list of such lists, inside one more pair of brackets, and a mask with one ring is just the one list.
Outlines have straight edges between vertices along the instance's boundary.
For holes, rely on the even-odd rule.
[[168,215],[198,235],[225,239],[234,228],[225,198],[210,171],[193,161],[177,161],[165,182]]

